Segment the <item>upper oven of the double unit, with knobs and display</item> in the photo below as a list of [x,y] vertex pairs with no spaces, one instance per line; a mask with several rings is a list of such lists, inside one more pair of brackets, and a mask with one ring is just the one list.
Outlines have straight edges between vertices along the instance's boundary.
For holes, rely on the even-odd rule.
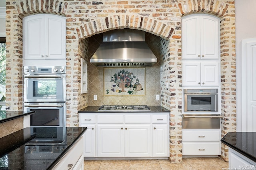
[[24,67],[24,102],[65,102],[66,67]]

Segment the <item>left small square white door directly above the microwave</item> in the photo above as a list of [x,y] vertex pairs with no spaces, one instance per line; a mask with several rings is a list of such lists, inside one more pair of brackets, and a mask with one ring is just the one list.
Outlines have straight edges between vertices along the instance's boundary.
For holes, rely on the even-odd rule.
[[182,61],[182,86],[200,84],[200,61]]

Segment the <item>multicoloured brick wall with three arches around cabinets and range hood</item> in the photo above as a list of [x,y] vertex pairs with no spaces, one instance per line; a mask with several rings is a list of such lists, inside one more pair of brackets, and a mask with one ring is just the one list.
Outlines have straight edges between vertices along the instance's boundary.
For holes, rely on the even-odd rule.
[[[80,58],[88,60],[89,37],[117,28],[161,37],[161,105],[170,109],[170,160],[182,161],[181,17],[206,13],[220,18],[222,135],[236,130],[234,0],[6,0],[6,105],[22,110],[22,18],[49,13],[66,16],[67,126],[78,126],[77,111],[87,105],[80,94]],[[89,70],[90,71],[90,70]],[[168,82],[168,90],[165,88]],[[86,103],[86,104],[85,104]],[[226,146],[222,158],[227,160]]]

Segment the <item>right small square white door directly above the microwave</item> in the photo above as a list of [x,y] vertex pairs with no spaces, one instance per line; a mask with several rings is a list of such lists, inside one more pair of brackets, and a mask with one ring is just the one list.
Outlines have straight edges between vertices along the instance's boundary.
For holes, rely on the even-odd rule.
[[201,62],[201,85],[218,86],[219,85],[219,63],[214,61]]

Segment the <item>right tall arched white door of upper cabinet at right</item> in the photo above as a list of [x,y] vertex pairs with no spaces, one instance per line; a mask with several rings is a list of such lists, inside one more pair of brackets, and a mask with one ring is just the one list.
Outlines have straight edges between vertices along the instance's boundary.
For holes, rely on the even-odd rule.
[[202,59],[218,59],[220,53],[219,19],[214,16],[200,16],[200,49]]

